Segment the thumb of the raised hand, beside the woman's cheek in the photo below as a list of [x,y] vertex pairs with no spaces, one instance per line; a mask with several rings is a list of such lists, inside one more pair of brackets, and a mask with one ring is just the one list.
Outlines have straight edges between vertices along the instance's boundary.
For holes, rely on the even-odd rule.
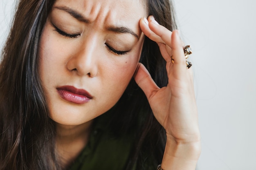
[[135,74],[134,79],[138,86],[144,91],[148,99],[150,99],[151,96],[153,96],[159,89],[146,67],[141,63],[137,66],[137,73]]

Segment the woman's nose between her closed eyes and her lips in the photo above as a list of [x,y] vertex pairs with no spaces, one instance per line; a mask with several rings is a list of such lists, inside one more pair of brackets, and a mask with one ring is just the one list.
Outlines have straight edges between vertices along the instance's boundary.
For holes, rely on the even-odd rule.
[[67,61],[67,69],[76,72],[79,76],[95,77],[97,68],[97,41],[96,38],[86,38],[76,49],[76,52]]

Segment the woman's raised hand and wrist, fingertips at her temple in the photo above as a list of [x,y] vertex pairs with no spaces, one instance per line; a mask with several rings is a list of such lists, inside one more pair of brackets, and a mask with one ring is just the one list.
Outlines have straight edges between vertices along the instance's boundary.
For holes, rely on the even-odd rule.
[[[166,130],[164,170],[192,170],[200,155],[198,112],[193,88],[193,71],[186,68],[183,42],[177,30],[159,25],[153,16],[141,19],[144,34],[157,42],[166,60],[168,85],[159,88],[146,68],[139,64],[135,81],[144,91],[155,118]],[[173,56],[174,64],[171,62]]]

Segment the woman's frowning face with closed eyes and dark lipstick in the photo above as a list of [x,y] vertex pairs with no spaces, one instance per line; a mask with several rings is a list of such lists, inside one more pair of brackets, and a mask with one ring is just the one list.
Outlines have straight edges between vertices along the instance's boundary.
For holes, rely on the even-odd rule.
[[39,74],[59,124],[105,113],[137,67],[145,9],[139,0],[57,0],[40,38]]

